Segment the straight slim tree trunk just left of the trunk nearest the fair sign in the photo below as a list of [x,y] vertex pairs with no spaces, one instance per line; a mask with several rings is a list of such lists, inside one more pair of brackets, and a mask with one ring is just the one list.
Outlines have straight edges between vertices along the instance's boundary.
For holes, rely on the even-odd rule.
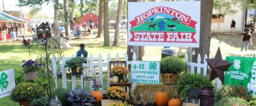
[[104,46],[109,46],[108,0],[104,0]]

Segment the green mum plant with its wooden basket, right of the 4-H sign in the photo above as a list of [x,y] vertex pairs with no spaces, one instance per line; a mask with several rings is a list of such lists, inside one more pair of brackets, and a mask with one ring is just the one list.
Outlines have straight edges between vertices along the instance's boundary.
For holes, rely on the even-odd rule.
[[163,84],[175,84],[179,73],[188,69],[187,63],[177,56],[167,56],[161,60]]

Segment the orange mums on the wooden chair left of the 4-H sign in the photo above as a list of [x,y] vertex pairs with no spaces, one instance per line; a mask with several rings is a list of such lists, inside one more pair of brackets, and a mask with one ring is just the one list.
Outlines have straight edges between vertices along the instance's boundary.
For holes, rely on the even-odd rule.
[[[116,79],[118,79],[119,83],[123,83],[124,81],[125,81],[125,83],[127,83],[128,82],[128,81],[126,82],[127,78],[124,78],[124,77],[126,77],[127,73],[128,73],[128,70],[125,67],[123,67],[123,66],[114,66],[111,69],[111,76],[114,76],[113,77],[113,82],[117,83]],[[118,78],[115,78],[115,77],[118,77]]]

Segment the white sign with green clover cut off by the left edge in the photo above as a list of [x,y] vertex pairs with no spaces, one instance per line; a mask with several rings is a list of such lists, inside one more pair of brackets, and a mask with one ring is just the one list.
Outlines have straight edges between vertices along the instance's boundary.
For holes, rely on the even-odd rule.
[[14,69],[0,71],[0,98],[11,95],[14,87]]

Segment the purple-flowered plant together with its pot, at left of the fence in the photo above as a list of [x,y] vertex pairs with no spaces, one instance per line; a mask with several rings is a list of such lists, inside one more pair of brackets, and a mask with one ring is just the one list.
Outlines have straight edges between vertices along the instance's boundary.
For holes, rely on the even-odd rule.
[[42,64],[38,63],[36,60],[23,61],[22,70],[25,73],[26,80],[35,80],[36,71],[42,68]]

